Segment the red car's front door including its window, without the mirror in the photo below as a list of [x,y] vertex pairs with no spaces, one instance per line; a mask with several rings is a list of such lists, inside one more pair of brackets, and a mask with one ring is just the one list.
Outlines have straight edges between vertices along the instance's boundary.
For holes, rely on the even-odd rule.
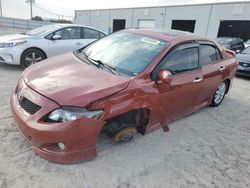
[[167,121],[192,112],[197,106],[203,79],[198,62],[198,44],[178,46],[162,60],[155,71],[160,70],[169,70],[174,75],[170,84],[157,82],[160,103]]

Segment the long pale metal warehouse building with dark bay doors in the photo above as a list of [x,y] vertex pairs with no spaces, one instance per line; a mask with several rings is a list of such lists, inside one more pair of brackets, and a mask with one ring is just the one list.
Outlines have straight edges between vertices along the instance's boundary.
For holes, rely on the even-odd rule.
[[164,28],[246,41],[250,38],[250,2],[76,10],[75,22],[107,33],[125,28]]

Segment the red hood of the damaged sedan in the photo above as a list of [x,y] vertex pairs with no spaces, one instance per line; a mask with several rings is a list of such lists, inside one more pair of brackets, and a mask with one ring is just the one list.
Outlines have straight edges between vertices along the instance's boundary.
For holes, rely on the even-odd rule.
[[73,53],[32,65],[23,78],[30,88],[60,105],[81,107],[125,89],[130,82],[129,77],[92,67]]

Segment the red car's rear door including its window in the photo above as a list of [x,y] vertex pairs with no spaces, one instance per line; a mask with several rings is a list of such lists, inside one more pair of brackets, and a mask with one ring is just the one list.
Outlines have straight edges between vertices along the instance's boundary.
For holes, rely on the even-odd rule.
[[199,62],[203,84],[198,100],[199,103],[206,103],[222,82],[226,64],[223,63],[220,50],[214,43],[200,41],[199,44]]

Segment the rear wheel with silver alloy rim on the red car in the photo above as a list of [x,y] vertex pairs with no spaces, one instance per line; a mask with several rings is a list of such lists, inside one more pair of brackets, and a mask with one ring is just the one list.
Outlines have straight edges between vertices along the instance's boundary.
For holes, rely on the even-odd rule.
[[219,106],[226,95],[227,89],[228,89],[228,82],[223,81],[217,88],[216,92],[214,93],[212,103],[210,106],[212,107]]

